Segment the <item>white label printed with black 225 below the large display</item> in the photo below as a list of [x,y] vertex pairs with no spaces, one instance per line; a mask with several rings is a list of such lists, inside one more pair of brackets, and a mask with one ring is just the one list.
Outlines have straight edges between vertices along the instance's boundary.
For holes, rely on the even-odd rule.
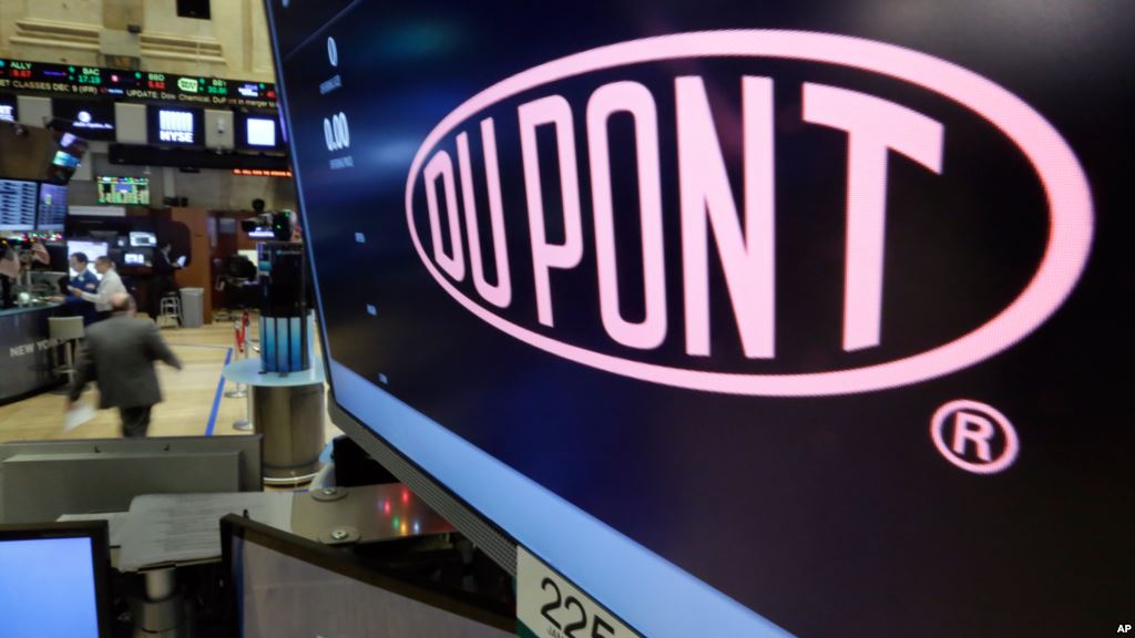
[[516,548],[516,619],[522,638],[642,638],[523,547]]

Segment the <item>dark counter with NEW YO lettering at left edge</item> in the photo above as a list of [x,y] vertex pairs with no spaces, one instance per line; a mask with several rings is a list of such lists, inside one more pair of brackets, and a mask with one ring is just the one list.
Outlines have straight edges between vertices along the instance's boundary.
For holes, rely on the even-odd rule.
[[43,391],[59,381],[48,317],[61,304],[0,310],[0,404]]

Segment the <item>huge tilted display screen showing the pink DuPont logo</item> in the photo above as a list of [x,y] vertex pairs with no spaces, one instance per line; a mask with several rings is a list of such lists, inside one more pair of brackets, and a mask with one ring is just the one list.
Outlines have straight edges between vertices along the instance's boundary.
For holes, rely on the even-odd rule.
[[629,626],[1130,614],[1135,6],[268,6],[335,401]]

